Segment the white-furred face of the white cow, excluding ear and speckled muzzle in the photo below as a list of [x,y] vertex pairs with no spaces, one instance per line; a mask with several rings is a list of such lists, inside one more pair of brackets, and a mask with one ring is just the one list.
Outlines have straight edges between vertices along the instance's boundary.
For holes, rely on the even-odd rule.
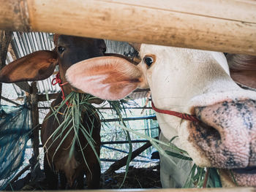
[[[144,58],[149,54],[155,55],[157,59],[149,69],[146,71],[142,69],[142,71],[146,74],[154,105],[159,109],[190,114],[192,107],[231,99],[256,99],[255,92],[242,90],[230,78],[223,53],[141,45],[140,57]],[[140,63],[140,66],[143,65],[145,64]],[[189,142],[187,120],[158,112],[156,114],[162,134],[168,140],[178,135],[178,141],[175,144],[187,150],[198,166],[211,166],[211,162],[202,151],[197,150]],[[167,164],[167,161],[165,163]],[[167,167],[162,166],[165,167],[164,169]],[[171,176],[165,175],[165,177]],[[162,182],[167,183],[166,180]],[[166,184],[165,187],[167,187]]]

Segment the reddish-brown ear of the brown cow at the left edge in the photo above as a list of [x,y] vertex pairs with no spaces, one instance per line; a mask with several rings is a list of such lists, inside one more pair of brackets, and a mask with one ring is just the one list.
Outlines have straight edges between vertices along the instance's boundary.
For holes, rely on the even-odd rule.
[[53,74],[56,64],[55,52],[39,50],[4,66],[0,71],[0,82],[44,80]]

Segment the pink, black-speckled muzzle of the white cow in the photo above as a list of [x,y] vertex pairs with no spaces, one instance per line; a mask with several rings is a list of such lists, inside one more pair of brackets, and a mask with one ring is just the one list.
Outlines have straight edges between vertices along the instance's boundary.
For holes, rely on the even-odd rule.
[[202,158],[239,186],[256,186],[255,107],[250,99],[195,107],[200,122],[189,123],[189,141]]

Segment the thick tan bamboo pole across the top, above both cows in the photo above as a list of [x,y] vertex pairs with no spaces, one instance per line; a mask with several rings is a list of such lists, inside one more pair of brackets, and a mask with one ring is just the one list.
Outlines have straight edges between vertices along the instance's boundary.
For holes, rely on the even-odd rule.
[[0,0],[0,28],[256,55],[254,0]]

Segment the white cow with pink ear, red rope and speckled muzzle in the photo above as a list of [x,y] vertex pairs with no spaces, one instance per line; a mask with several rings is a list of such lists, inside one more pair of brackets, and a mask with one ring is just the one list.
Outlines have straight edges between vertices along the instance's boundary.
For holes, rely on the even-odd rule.
[[121,99],[150,88],[154,105],[195,115],[200,122],[157,113],[162,134],[187,150],[198,166],[221,169],[222,185],[256,186],[256,93],[231,78],[222,53],[141,45],[138,66],[123,58],[81,61],[67,80],[102,99]]

